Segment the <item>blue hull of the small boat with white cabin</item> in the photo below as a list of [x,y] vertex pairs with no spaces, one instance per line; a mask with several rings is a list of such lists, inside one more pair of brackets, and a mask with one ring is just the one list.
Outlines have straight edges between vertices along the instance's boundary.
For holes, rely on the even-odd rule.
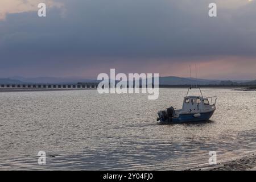
[[194,114],[180,114],[177,118],[170,118],[163,121],[160,119],[162,123],[185,123],[185,122],[200,122],[200,121],[208,121],[215,110],[209,111],[207,113],[200,113],[200,117],[194,117]]

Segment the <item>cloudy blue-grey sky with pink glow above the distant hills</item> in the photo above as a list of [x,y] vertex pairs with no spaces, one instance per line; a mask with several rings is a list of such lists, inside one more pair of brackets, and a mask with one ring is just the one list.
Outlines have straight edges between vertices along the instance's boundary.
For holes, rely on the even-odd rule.
[[256,0],[1,0],[0,77],[255,80],[255,18]]

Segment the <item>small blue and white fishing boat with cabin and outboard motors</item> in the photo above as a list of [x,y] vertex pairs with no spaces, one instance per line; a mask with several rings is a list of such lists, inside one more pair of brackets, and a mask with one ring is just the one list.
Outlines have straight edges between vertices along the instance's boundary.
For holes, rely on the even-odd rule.
[[[199,90],[201,92],[200,88]],[[182,109],[169,107],[166,110],[161,110],[158,112],[157,121],[160,123],[208,121],[216,110],[217,97],[204,97],[202,92],[201,96],[188,96],[188,92],[184,97]]]

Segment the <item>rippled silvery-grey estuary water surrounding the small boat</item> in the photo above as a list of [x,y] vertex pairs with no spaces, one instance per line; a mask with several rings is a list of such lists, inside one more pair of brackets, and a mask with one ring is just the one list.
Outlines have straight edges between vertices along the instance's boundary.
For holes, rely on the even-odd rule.
[[160,89],[158,100],[97,90],[0,93],[0,169],[178,170],[208,164],[209,151],[217,162],[255,151],[256,92],[202,91],[218,96],[213,117],[181,125],[159,125],[156,113],[179,109],[187,89]]

